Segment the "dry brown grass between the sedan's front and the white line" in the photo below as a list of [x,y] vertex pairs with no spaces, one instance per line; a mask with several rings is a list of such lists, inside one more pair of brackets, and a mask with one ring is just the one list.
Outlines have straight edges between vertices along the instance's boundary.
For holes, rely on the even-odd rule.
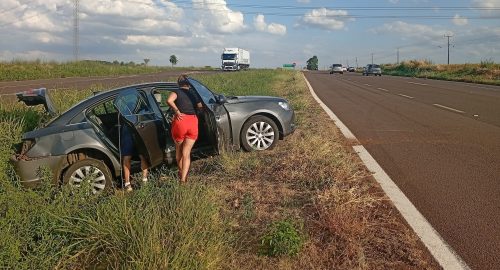
[[[223,215],[238,235],[229,268],[439,268],[348,150],[300,73],[281,76],[275,91],[296,109],[296,132],[273,151],[226,153],[194,164],[193,181],[216,186]],[[266,226],[282,219],[304,224],[302,252],[294,258],[259,255]]]

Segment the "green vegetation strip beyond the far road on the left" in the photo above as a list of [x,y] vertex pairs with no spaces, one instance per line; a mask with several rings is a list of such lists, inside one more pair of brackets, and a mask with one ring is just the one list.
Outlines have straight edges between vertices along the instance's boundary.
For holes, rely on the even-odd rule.
[[[149,59],[146,60],[148,60],[147,62],[149,62]],[[10,62],[0,62],[0,81],[132,75],[183,69],[187,68],[158,67],[149,66],[146,63],[124,63],[118,61],[79,61],[61,63],[55,61],[45,62],[40,60],[14,60]]]

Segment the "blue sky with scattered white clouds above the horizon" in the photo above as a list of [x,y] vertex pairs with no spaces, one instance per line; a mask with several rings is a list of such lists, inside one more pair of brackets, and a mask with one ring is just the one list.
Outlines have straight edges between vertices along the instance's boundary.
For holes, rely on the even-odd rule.
[[[76,0],[1,0],[0,61],[71,61]],[[81,0],[78,59],[251,67],[500,62],[500,0]]]

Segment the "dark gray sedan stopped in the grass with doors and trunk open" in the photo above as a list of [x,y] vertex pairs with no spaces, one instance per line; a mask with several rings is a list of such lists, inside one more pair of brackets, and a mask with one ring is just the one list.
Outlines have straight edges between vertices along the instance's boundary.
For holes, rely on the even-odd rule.
[[[295,114],[287,100],[264,96],[216,94],[193,78],[199,95],[199,140],[194,153],[223,149],[267,150],[295,129]],[[170,136],[174,112],[166,98],[177,83],[153,82],[98,93],[76,104],[45,127],[27,132],[11,163],[25,186],[40,182],[48,168],[56,184],[79,187],[89,183],[93,193],[110,188],[121,175],[120,126],[132,130],[138,152],[151,167],[175,160]],[[17,94],[28,106],[54,111],[45,88]],[[134,169],[134,168],[133,168]]]

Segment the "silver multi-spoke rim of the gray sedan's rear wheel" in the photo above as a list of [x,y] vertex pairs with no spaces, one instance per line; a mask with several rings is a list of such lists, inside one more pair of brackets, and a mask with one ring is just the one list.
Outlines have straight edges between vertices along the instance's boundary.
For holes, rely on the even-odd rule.
[[69,178],[69,185],[80,187],[84,183],[89,184],[93,194],[103,191],[106,187],[106,176],[97,167],[83,166],[75,170]]

